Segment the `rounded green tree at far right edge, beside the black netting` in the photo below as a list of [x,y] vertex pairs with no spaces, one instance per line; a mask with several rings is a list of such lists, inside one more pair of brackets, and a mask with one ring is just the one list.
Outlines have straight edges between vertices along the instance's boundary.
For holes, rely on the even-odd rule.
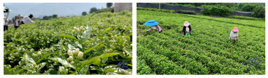
[[257,6],[251,14],[252,17],[255,18],[265,18],[265,8],[262,5]]

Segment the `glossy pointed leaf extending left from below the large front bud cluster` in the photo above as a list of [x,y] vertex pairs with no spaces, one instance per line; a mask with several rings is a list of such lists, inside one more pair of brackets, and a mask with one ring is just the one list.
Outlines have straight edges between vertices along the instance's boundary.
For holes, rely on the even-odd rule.
[[62,65],[65,65],[67,67],[71,67],[71,68],[76,68],[75,65],[71,65],[70,62],[67,61],[67,58],[65,57],[52,57],[52,58],[49,58],[50,60],[53,60],[53,61],[56,61],[56,62],[59,62],[61,63]]

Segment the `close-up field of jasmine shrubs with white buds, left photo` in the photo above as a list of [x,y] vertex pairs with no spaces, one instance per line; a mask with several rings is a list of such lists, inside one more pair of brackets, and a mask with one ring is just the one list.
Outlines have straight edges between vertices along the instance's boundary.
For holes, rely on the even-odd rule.
[[10,27],[4,32],[4,74],[132,74],[131,36],[130,11]]

